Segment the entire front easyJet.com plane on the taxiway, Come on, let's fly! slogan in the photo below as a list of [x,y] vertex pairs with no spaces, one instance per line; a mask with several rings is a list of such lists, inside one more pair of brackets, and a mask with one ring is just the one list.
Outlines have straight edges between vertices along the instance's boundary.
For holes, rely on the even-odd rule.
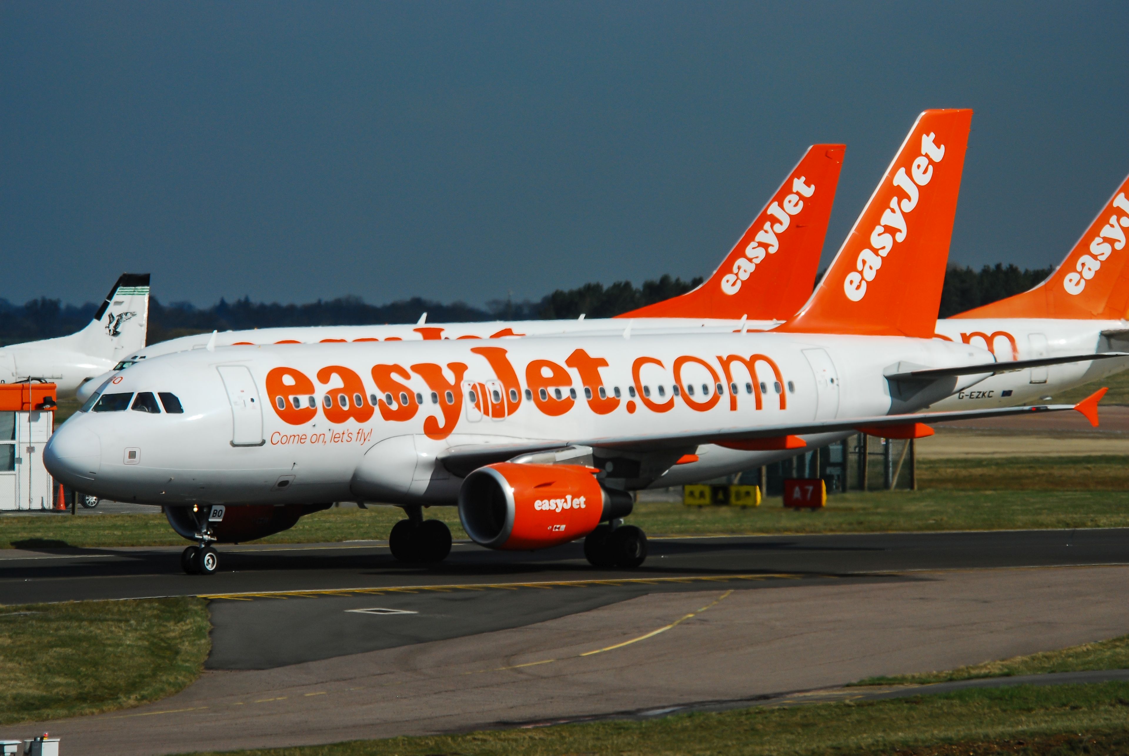
[[981,346],[933,339],[971,116],[918,118],[856,223],[896,222],[895,243],[875,254],[852,231],[776,331],[180,352],[115,376],[44,460],[67,485],[164,506],[198,543],[189,572],[217,569],[213,542],[277,533],[341,500],[403,507],[390,545],[404,561],[446,557],[450,533],[422,507],[457,504],[484,546],[583,537],[594,564],[636,566],[646,536],[621,524],[633,490],[858,430],[905,438],[938,420],[1069,408],[1096,423],[1099,395],[912,414],[998,367]]

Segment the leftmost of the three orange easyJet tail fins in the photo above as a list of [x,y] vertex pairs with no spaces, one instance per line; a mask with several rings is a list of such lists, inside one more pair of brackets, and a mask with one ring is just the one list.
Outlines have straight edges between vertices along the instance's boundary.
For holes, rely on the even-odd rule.
[[618,317],[784,320],[812,292],[843,144],[813,144],[703,284]]

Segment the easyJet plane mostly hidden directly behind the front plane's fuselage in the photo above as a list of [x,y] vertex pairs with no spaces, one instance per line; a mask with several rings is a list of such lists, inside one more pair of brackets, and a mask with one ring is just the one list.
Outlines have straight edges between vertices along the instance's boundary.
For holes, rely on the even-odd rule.
[[[842,144],[813,144],[737,239],[721,265],[700,287],[680,297],[590,320],[509,320],[495,323],[314,326],[259,328],[184,336],[145,346],[138,343],[113,370],[79,392],[85,402],[114,371],[145,359],[192,349],[243,344],[296,344],[601,333],[636,329],[714,328],[762,331],[790,317],[806,301],[834,204]],[[142,331],[143,334],[143,331]],[[107,366],[107,368],[111,366]]]

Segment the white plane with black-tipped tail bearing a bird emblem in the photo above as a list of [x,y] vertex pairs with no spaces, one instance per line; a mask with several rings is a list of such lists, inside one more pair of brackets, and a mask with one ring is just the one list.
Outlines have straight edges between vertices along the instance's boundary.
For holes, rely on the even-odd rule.
[[145,346],[149,274],[122,273],[89,325],[69,336],[0,349],[0,383],[47,380],[56,394],[75,394]]

